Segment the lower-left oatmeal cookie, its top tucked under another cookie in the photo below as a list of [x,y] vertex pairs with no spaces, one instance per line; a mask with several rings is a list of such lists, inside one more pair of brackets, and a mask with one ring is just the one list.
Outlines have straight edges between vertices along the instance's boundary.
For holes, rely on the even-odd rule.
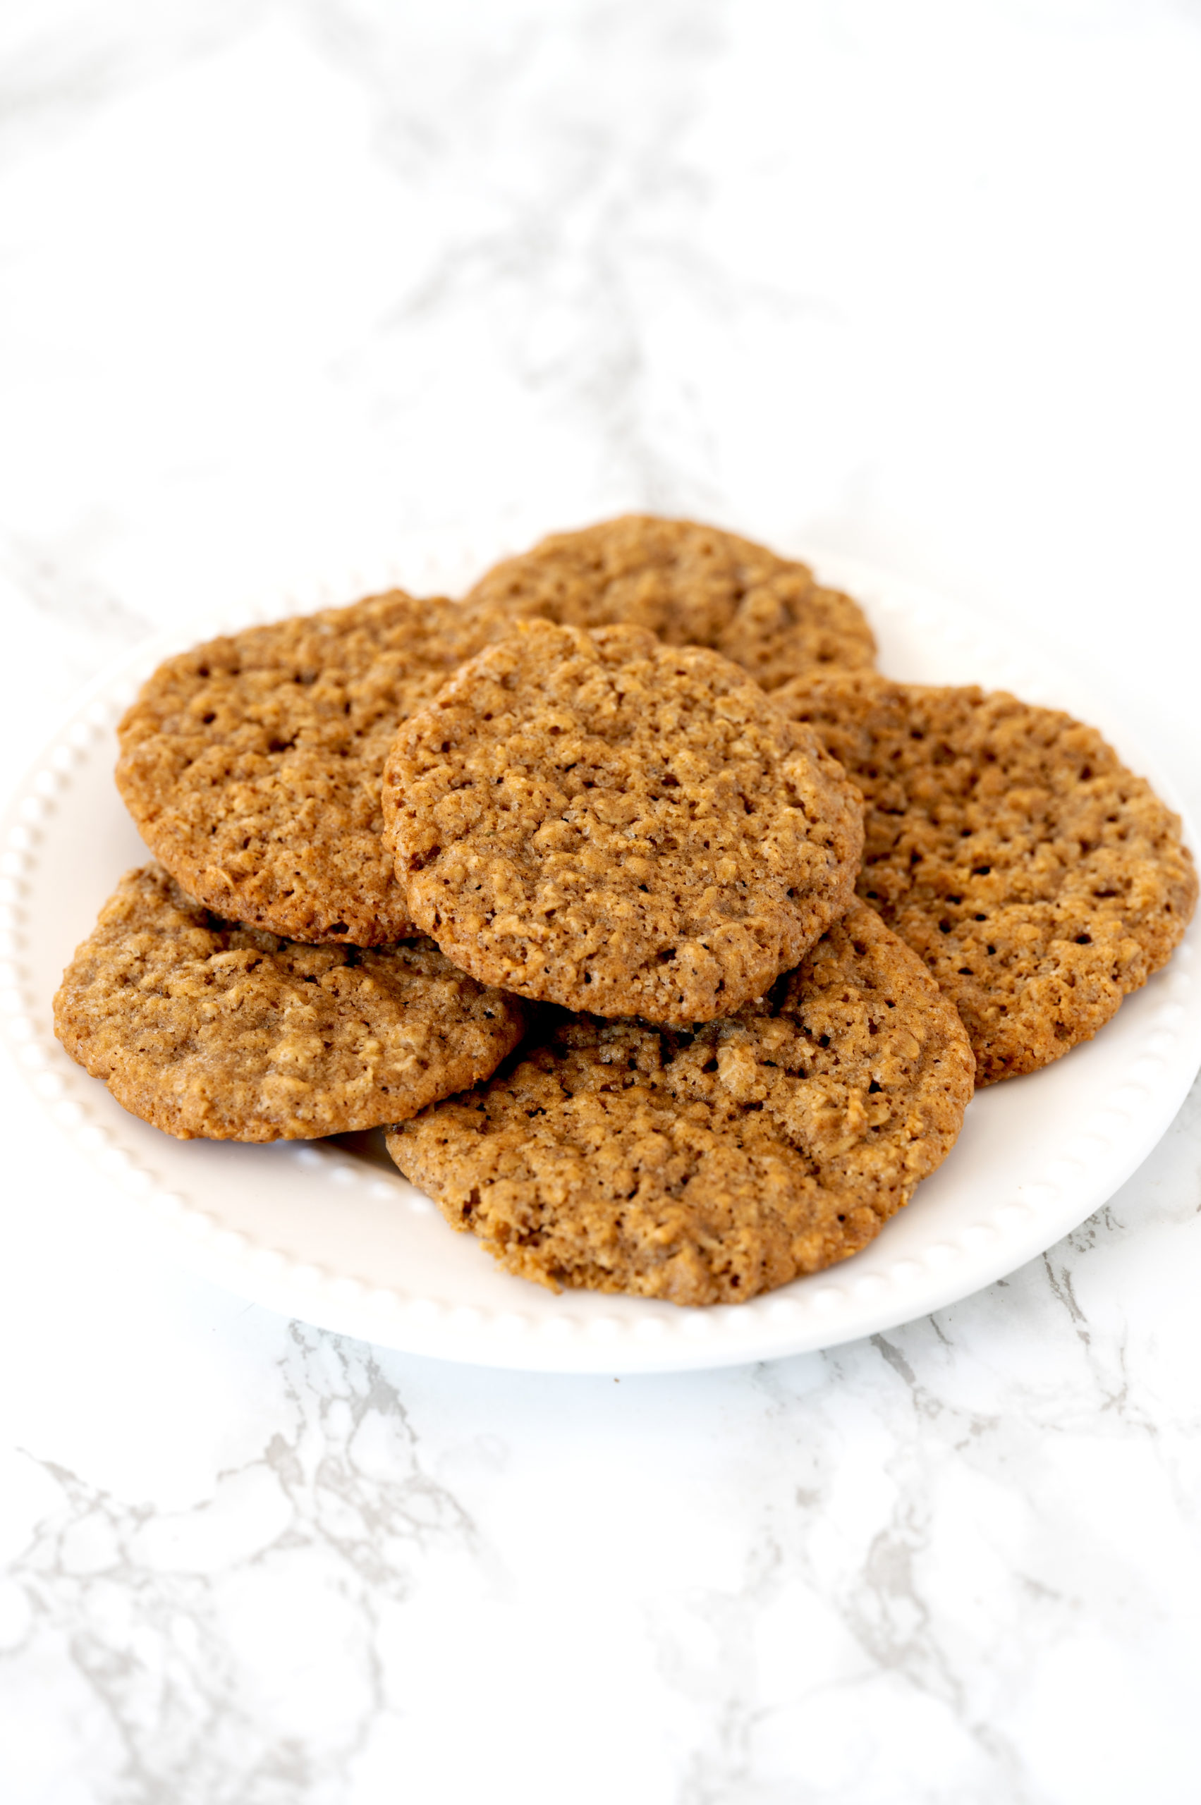
[[428,940],[302,946],[220,921],[148,865],[76,949],[54,1032],[117,1103],[190,1141],[374,1128],[493,1072],[522,1007]]

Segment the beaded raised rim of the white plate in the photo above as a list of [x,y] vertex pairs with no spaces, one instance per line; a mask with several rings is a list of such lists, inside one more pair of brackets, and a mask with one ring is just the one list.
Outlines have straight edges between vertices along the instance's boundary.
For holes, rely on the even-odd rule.
[[[1046,702],[1046,662],[1042,668],[1029,666],[1011,650],[1001,652],[986,634],[964,623],[966,610],[954,599],[858,558],[818,549],[802,556],[816,567],[824,581],[863,599],[872,625],[883,625],[881,617],[887,616],[901,616],[910,628],[925,623],[939,632],[945,648],[964,652],[968,659],[973,648],[981,646],[984,648],[981,662],[993,673],[997,670],[1004,673],[1002,680],[990,677],[990,688],[1013,688],[1031,700]],[[197,639],[278,619],[289,612],[327,606],[331,585],[321,583],[316,596],[318,599],[307,599],[293,592],[265,603],[235,603],[199,621],[193,619],[186,628],[155,634],[114,659],[61,711],[54,731],[47,735],[0,818],[0,966],[5,967],[0,973],[0,1032],[14,1056],[16,1069],[54,1121],[56,1132],[65,1130],[88,1161],[108,1179],[116,1179],[119,1189],[137,1202],[141,1224],[168,1258],[173,1256],[184,1267],[265,1309],[408,1354],[558,1374],[704,1370],[838,1347],[887,1332],[986,1289],[1100,1209],[1143,1164],[1170,1126],[1201,1067],[1201,1009],[1188,1011],[1172,1000],[1167,1002],[1167,1009],[1158,1011],[1159,1020],[1152,1018],[1150,1023],[1154,1032],[1145,1036],[1147,1045],[1156,1043],[1154,1051],[1134,1052],[1134,1061],[1141,1058],[1143,1067],[1154,1067],[1154,1083],[1141,1085],[1145,1103],[1138,1114],[1138,1134],[1125,1134],[1109,1146],[1096,1130],[1091,1134],[1091,1139],[1100,1143],[1094,1164],[1103,1170],[1103,1184],[1076,1191],[1069,1188],[1067,1193],[1062,1186],[1058,1191],[1055,1186],[1042,1186],[1049,1195],[1040,1206],[1033,1206],[1029,1199],[1002,1204],[993,1211],[995,1220],[968,1222],[959,1231],[959,1245],[945,1236],[926,1249],[925,1260],[907,1256],[894,1262],[890,1274],[867,1273],[843,1278],[851,1267],[834,1265],[742,1305],[670,1307],[666,1318],[656,1300],[623,1296],[619,1307],[627,1314],[634,1307],[632,1321],[614,1316],[573,1318],[573,1298],[600,1296],[594,1292],[567,1292],[554,1300],[549,1314],[545,1294],[540,1294],[542,1314],[531,1319],[515,1310],[488,1310],[479,1305],[405,1294],[396,1287],[370,1285],[347,1273],[320,1271],[280,1249],[256,1245],[237,1229],[220,1226],[202,1204],[159,1189],[137,1153],[123,1148],[119,1135],[110,1128],[98,1125],[96,1112],[88,1108],[88,1096],[98,1097],[99,1081],[76,1067],[52,1034],[38,1027],[36,1011],[38,1005],[45,1007],[45,998],[33,998],[27,973],[22,971],[23,892],[31,870],[36,868],[38,845],[47,838],[45,823],[52,818],[54,798],[70,782],[61,756],[58,765],[54,758],[60,747],[74,745],[76,769],[83,767],[87,745],[94,745],[116,722],[141,675],[163,657],[195,644]],[[1109,709],[1105,706],[1096,709],[1069,671],[1053,668],[1051,690],[1055,700],[1046,706],[1067,708],[1078,718],[1102,722],[1105,736],[1116,740],[1120,756],[1143,771],[1159,796],[1181,814],[1185,839],[1196,847],[1192,821],[1170,773],[1159,769],[1158,760],[1149,756],[1123,726],[1114,727],[1107,718]],[[1156,973],[1150,984],[1159,980],[1159,987],[1172,989],[1178,998],[1196,993],[1197,940],[1201,924],[1194,921],[1168,966]],[[1176,1025],[1176,1034],[1168,1022]],[[1192,1034],[1188,1034],[1190,1022],[1197,1023]],[[1165,1072],[1172,1040],[1178,1041],[1179,1052]],[[1129,1088],[1127,1081],[1123,1088]],[[99,1090],[108,1096],[105,1087]],[[314,1143],[294,1143],[294,1146],[312,1148]],[[334,1153],[329,1144],[318,1143],[316,1148],[318,1157],[336,1161],[343,1182],[352,1182],[354,1177],[365,1184],[372,1182],[370,1168],[363,1173],[350,1171],[347,1179],[349,1161]],[[880,1247],[880,1242],[872,1245]],[[638,1305],[647,1305],[641,1316]]]

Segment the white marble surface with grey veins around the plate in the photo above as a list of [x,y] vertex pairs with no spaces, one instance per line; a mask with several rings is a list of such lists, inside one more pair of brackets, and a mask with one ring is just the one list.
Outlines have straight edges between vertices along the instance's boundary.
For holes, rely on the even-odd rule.
[[[1199,90],[1185,0],[9,0],[4,771],[213,601],[650,505],[1040,635],[1197,810]],[[992,1291],[619,1384],[0,1134],[5,1805],[1201,1792],[1197,1092]]]

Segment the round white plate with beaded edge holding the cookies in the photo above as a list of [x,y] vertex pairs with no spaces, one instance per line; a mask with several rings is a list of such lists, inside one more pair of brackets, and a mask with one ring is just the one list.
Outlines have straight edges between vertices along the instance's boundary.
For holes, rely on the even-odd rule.
[[[842,558],[815,563],[863,601],[890,675],[981,682],[1069,708],[1174,801],[1163,774],[1071,679],[1013,662],[926,590]],[[146,857],[112,783],[121,709],[168,652],[264,612],[289,608],[200,623],[88,691],[9,814],[0,893],[5,1029],[36,1094],[60,1132],[143,1200],[148,1226],[231,1291],[385,1347],[489,1366],[666,1372],[796,1354],[954,1303],[1042,1253],[1125,1182],[1185,1099],[1201,1065],[1196,928],[1096,1040],[982,1090],[950,1159],[870,1247],[751,1303],[708,1310],[554,1296],[511,1278],[399,1177],[379,1135],[235,1146],[148,1128],[61,1051],[51,996],[116,879]]]

